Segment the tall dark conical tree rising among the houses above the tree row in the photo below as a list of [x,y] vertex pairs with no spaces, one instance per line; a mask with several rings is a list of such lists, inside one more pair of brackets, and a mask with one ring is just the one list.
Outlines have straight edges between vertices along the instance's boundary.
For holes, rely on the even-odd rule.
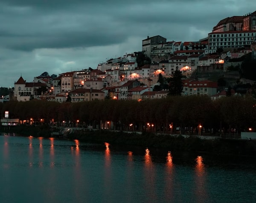
[[174,71],[173,77],[170,78],[169,83],[169,95],[181,95],[183,90],[183,82],[182,82],[183,75],[178,67]]

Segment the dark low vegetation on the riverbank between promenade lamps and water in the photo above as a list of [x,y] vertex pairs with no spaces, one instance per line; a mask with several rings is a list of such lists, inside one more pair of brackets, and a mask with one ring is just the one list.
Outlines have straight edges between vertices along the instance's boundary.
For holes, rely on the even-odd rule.
[[[59,137],[52,136],[52,132],[61,130],[49,125],[19,125],[10,129],[0,128],[0,132],[15,133],[15,136]],[[60,136],[59,138],[62,138]],[[69,140],[79,140],[86,143],[109,143],[113,147],[125,146],[149,148],[157,151],[188,152],[201,154],[215,154],[227,156],[256,156],[256,141],[241,139],[201,139],[197,135],[182,136],[179,134],[156,134],[154,132],[113,132],[110,130],[73,130],[64,137]]]

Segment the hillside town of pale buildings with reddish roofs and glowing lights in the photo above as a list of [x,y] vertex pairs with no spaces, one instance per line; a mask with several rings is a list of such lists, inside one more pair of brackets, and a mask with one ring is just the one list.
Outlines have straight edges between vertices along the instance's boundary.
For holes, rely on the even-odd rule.
[[[160,85],[159,77],[173,77],[175,70],[184,77],[182,95],[206,94],[216,100],[226,96],[228,88],[241,80],[238,71],[241,61],[234,59],[246,54],[256,60],[256,11],[220,20],[207,37],[198,41],[177,42],[160,35],[147,36],[142,40],[141,51],[108,59],[96,69],[64,72],[58,76],[44,72],[31,82],[20,76],[14,89],[2,100],[83,102],[105,98],[163,98],[169,89],[155,86]],[[218,81],[223,78],[228,82],[220,85]],[[240,93],[232,91],[232,94]]]

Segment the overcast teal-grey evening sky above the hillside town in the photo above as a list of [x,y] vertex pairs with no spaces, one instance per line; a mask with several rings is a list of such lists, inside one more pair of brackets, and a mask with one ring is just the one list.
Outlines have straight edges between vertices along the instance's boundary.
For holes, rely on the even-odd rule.
[[96,69],[142,51],[142,40],[198,41],[254,0],[0,0],[0,86],[47,71]]

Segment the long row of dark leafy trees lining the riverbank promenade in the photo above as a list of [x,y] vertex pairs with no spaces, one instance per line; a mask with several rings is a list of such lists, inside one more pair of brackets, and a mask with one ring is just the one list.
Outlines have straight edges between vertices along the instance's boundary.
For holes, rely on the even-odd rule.
[[[199,124],[204,129],[236,128],[256,129],[256,101],[252,97],[223,97],[212,101],[208,96],[169,96],[163,99],[143,100],[102,100],[81,103],[57,103],[44,100],[27,102],[10,101],[1,103],[2,117],[9,111],[11,118],[20,120],[43,120],[44,123],[61,124],[64,120],[80,124],[99,126],[110,121],[116,130],[170,131],[180,127],[193,133]],[[153,125],[152,125],[153,124]],[[230,132],[230,131],[229,131]]]

